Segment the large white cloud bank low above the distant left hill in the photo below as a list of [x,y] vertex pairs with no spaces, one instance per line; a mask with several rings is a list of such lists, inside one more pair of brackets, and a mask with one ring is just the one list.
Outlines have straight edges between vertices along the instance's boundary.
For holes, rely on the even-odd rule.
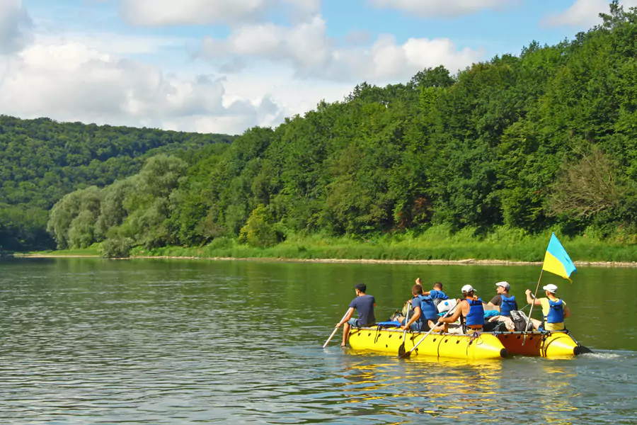
[[[270,98],[226,101],[224,81],[180,79],[77,42],[35,44],[11,57],[0,81],[3,113],[113,125],[241,132],[282,119]],[[202,123],[206,123],[202,125]]]

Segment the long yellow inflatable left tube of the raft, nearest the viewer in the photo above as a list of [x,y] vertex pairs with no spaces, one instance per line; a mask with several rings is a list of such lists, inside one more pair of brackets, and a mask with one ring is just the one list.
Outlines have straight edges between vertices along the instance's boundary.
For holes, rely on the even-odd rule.
[[[410,351],[426,334],[426,332],[407,332],[405,351]],[[354,350],[378,351],[398,356],[398,349],[403,344],[403,331],[397,328],[352,328],[350,329],[349,343]],[[493,334],[432,333],[420,343],[411,356],[466,358],[470,360],[501,359],[507,356],[507,349]]]

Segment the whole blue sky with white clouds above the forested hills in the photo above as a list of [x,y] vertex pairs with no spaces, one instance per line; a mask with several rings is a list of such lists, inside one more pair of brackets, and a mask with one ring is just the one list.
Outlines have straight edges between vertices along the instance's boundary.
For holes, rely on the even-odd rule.
[[[620,2],[625,8],[637,0]],[[241,134],[553,45],[609,0],[0,0],[0,114]]]

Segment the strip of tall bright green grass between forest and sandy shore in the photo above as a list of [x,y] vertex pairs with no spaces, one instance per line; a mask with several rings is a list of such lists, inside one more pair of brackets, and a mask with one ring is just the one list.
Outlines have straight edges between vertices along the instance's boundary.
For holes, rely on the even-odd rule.
[[[551,232],[529,235],[517,229],[499,227],[486,236],[475,229],[452,233],[437,226],[418,236],[394,234],[368,240],[326,237],[318,234],[292,236],[285,242],[258,248],[219,237],[201,247],[135,247],[131,256],[190,256],[197,258],[275,259],[370,259],[370,260],[507,260],[543,261]],[[562,244],[573,261],[637,261],[637,244],[632,239],[597,239],[588,236],[563,237]]]

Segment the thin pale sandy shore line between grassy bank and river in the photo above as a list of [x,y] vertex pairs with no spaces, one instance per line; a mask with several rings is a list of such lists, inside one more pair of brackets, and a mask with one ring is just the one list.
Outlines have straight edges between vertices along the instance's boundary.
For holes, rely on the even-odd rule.
[[[16,258],[30,259],[87,259],[100,258],[98,255],[62,255],[62,254],[15,254]],[[479,266],[537,266],[542,261],[508,261],[508,260],[372,260],[372,259],[274,259],[274,258],[246,258],[233,257],[195,257],[195,256],[133,256],[126,259],[174,259],[174,260],[208,260],[208,261],[269,261],[288,263],[363,263],[363,264],[440,264],[440,265],[479,265]],[[597,267],[637,267],[637,262],[631,261],[574,261],[575,266]]]

